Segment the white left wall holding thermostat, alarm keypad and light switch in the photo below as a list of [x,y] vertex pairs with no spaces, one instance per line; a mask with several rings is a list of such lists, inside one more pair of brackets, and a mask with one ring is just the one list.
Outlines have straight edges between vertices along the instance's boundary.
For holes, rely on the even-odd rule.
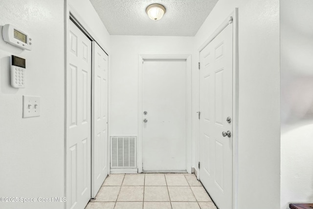
[[[32,51],[0,38],[0,197],[64,197],[64,0],[1,0],[7,23],[31,34]],[[10,55],[26,59],[26,88],[10,86]],[[22,95],[41,97],[41,116],[22,118]],[[63,203],[3,203],[56,209]]]

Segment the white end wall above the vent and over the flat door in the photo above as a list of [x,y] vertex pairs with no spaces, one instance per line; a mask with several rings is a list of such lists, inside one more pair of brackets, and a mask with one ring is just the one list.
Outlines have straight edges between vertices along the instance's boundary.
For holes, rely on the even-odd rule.
[[138,55],[191,54],[192,37],[111,36],[109,135],[138,134]]

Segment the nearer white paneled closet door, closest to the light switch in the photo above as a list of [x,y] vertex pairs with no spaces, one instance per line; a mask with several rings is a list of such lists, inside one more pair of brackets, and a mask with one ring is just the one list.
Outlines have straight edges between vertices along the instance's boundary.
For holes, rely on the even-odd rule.
[[67,208],[84,209],[91,195],[91,41],[68,21]]

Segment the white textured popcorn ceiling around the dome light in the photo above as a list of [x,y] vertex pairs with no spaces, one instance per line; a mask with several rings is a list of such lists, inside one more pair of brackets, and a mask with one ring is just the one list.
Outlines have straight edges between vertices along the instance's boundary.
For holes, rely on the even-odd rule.
[[[194,36],[218,0],[90,0],[111,35]],[[160,3],[159,21],[146,14]]]

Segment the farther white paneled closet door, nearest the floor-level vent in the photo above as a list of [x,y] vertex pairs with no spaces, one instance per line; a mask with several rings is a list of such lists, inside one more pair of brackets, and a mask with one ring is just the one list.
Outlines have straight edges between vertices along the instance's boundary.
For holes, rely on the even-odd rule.
[[92,42],[92,198],[108,175],[108,58]]

